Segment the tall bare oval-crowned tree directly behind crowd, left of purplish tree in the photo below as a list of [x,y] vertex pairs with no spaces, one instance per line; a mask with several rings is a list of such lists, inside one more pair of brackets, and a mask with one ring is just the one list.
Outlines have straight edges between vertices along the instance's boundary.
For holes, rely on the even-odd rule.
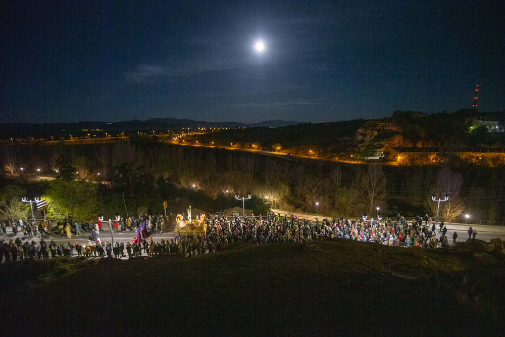
[[373,210],[386,199],[387,180],[384,170],[379,164],[368,166],[367,173],[362,180],[362,188],[365,201],[368,206],[368,214],[373,214]]

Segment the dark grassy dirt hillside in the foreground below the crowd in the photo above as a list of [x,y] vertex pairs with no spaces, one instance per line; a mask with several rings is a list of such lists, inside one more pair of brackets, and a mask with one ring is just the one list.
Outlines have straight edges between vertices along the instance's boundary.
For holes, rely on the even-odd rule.
[[500,335],[502,249],[501,241],[432,251],[332,239],[236,244],[192,258],[4,264],[4,333]]

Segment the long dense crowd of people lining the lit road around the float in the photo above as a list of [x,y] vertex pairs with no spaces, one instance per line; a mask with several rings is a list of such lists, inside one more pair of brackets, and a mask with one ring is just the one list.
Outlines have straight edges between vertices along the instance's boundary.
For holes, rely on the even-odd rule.
[[[319,221],[308,221],[299,219],[296,216],[282,217],[280,214],[268,214],[266,217],[239,217],[234,216],[233,220],[217,215],[211,218],[205,218],[202,226],[206,227],[204,233],[191,233],[180,236],[176,234],[170,242],[165,239],[155,241],[152,235],[163,234],[167,229],[167,224],[171,223],[171,216],[164,217],[143,215],[138,218],[119,219],[111,223],[112,229],[118,233],[128,233],[134,236],[131,240],[111,243],[109,240],[103,242],[98,233],[102,231],[102,221],[98,220],[95,224],[86,222],[73,222],[67,219],[64,222],[57,222],[55,231],[60,235],[66,235],[71,238],[72,233],[82,235],[82,232],[89,234],[86,243],[57,244],[53,239],[47,244],[44,238],[41,238],[38,245],[35,236],[42,233],[55,234],[54,224],[50,221],[26,224],[21,220],[19,223],[12,224],[13,232],[17,234],[17,228],[20,227],[27,239],[25,243],[19,236],[15,240],[0,243],[0,261],[17,261],[26,258],[47,259],[49,254],[51,258],[58,256],[84,256],[86,258],[95,257],[115,257],[132,258],[141,256],[157,256],[161,254],[183,254],[185,256],[194,256],[199,254],[213,253],[222,250],[224,247],[233,243],[249,242],[253,244],[273,244],[287,242],[307,242],[322,237],[334,237],[342,239],[351,239],[361,242],[377,243],[387,246],[418,246],[431,249],[448,247],[447,228],[443,221],[440,222],[440,237],[437,238],[436,225],[430,226],[428,216],[424,218],[416,217],[409,224],[405,218],[399,214],[396,219],[367,219],[363,216],[361,219],[324,219]],[[15,223],[15,222],[14,222]],[[5,234],[6,226],[2,222],[2,232]],[[475,238],[477,232],[468,230],[469,238]],[[452,242],[456,241],[458,234],[452,234]],[[131,241],[131,242],[130,242]],[[126,251],[126,254],[125,254]]]

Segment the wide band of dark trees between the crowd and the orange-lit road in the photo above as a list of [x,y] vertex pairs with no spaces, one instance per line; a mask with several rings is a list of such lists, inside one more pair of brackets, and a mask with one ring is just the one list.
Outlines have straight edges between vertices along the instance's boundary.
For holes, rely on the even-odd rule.
[[[82,198],[96,200],[86,214],[124,213],[125,204],[132,214],[144,208],[161,213],[164,200],[171,212],[182,212],[188,203],[214,212],[241,206],[235,195],[252,194],[246,208],[256,214],[266,213],[268,207],[316,213],[318,202],[319,214],[328,216],[375,216],[376,207],[384,216],[435,216],[431,196],[445,194],[449,200],[440,208],[445,221],[462,212],[489,221],[505,215],[500,168],[473,164],[342,164],[183,147],[150,137],[92,145],[9,145],[2,147],[0,156],[3,189],[17,184],[28,195],[37,192],[61,200],[77,198],[85,190]],[[37,174],[58,180],[28,183]],[[80,185],[70,185],[75,180]]]

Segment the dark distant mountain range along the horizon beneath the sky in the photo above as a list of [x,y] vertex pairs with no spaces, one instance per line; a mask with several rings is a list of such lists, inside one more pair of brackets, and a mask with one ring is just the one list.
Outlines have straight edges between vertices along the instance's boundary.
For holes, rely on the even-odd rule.
[[[120,132],[151,132],[151,131],[164,131],[167,130],[181,130],[182,128],[197,129],[203,128],[231,128],[231,127],[255,127],[255,126],[286,126],[295,125],[295,121],[282,121],[270,120],[260,123],[245,124],[239,122],[206,122],[194,121],[191,119],[176,119],[176,118],[153,118],[145,121],[134,119],[124,122],[74,122],[74,123],[7,123],[2,125],[2,132],[0,138],[11,137],[47,137],[47,136],[64,136],[72,134],[79,136],[87,133],[87,131],[100,130],[108,132],[109,134],[116,134]],[[86,131],[86,132],[85,132]],[[96,133],[96,132],[95,132]]]

